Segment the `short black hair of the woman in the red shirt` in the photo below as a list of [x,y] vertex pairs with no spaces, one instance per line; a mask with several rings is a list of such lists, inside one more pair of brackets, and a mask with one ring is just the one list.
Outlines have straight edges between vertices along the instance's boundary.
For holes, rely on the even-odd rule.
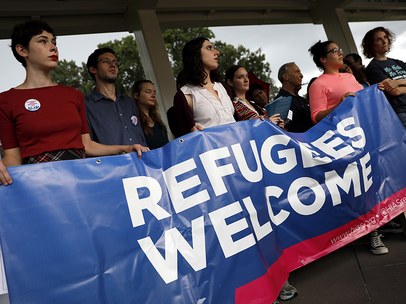
[[47,31],[56,39],[55,32],[48,25],[48,23],[40,20],[27,21],[22,24],[14,26],[13,33],[11,34],[11,50],[14,57],[22,64],[23,67],[27,67],[24,57],[17,53],[16,46],[21,45],[28,50],[28,44],[31,38],[35,35],[41,34],[43,31]]

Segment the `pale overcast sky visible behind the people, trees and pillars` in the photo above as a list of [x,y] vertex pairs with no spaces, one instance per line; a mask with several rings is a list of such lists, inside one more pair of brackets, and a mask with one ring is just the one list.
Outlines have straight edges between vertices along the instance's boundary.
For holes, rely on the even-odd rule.
[[[352,22],[349,23],[354,36],[355,44],[359,48],[362,37],[371,28],[384,26],[391,29],[397,36],[393,51],[389,57],[405,61],[406,54],[406,21],[385,21],[385,22]],[[243,45],[251,51],[262,48],[265,60],[269,62],[272,69],[271,77],[281,86],[277,80],[279,67],[286,63],[295,61],[301,69],[304,77],[303,83],[307,83],[313,77],[320,75],[320,71],[314,64],[308,52],[309,47],[318,40],[327,40],[322,25],[314,24],[278,24],[278,25],[250,25],[250,26],[227,26],[212,27],[215,33],[214,40],[220,40],[235,47]],[[111,40],[120,40],[129,35],[127,32],[69,35],[58,36],[57,44],[60,59],[74,60],[79,65],[85,62],[97,44]],[[0,40],[0,54],[5,67],[0,92],[16,87],[24,81],[25,70],[13,57],[8,47],[10,40]],[[363,59],[367,64],[369,60]],[[306,93],[306,86],[299,94]]]

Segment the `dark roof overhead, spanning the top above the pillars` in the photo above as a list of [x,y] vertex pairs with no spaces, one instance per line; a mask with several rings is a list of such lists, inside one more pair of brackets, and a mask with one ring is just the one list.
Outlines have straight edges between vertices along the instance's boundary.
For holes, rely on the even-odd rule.
[[325,9],[342,9],[347,20],[406,20],[405,0],[1,0],[0,39],[15,24],[49,23],[58,35],[132,31],[134,11],[153,10],[161,29],[321,23]]

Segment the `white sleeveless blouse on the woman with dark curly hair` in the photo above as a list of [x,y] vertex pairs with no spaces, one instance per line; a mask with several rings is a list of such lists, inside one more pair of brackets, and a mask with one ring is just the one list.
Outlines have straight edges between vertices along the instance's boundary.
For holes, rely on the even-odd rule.
[[192,85],[181,88],[183,94],[192,95],[194,122],[203,128],[235,123],[234,106],[227,91],[217,82],[214,83],[213,89],[217,91],[220,101],[206,89]]

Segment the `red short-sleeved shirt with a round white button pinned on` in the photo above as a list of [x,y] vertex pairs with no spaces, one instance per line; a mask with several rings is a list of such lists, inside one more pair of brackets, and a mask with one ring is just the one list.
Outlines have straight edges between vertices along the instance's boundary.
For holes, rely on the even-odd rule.
[[75,88],[57,85],[0,94],[0,140],[4,149],[20,147],[22,159],[84,149],[81,135],[86,133],[84,99]]

